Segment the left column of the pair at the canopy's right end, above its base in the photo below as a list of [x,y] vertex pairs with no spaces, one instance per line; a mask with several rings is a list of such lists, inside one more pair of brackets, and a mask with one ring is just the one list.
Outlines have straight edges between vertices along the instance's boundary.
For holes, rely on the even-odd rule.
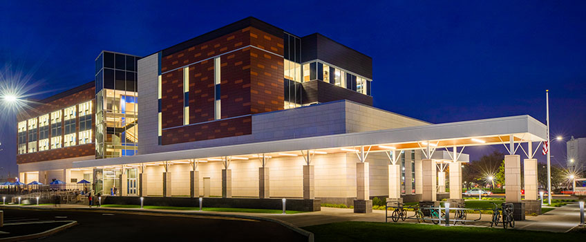
[[507,203],[521,202],[521,158],[518,155],[504,156],[504,185]]

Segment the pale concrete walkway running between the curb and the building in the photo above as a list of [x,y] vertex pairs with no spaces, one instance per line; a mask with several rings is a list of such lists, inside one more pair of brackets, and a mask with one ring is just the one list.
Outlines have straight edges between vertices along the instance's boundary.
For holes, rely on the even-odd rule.
[[[26,206],[35,208],[37,206],[31,205]],[[53,206],[39,206],[39,208],[55,208]],[[24,207],[23,207],[24,208]],[[79,210],[98,210],[98,208],[88,208],[86,206],[79,205],[62,205],[59,209],[79,209]],[[384,210],[373,210],[370,214],[355,214],[352,209],[333,208],[333,207],[321,207],[319,212],[305,212],[300,214],[261,214],[261,213],[245,213],[245,212],[199,212],[199,211],[181,211],[181,210],[149,210],[149,209],[129,209],[129,208],[115,208],[115,207],[100,207],[100,210],[124,210],[124,211],[140,211],[140,212],[173,212],[185,215],[237,215],[237,216],[250,216],[258,218],[272,218],[274,220],[283,221],[287,224],[294,225],[296,227],[305,227],[311,225],[321,225],[325,223],[337,223],[344,221],[366,221],[366,222],[379,222],[384,223],[385,213]],[[408,216],[413,216],[413,212],[408,212]],[[468,219],[479,218],[480,214],[468,214]],[[478,226],[478,227],[489,227],[491,220],[491,214],[482,214],[482,219],[477,223],[466,223],[466,225]],[[484,222],[484,223],[483,223]],[[390,221],[389,223],[393,223]],[[404,222],[399,220],[399,223],[417,223],[415,219],[408,219]],[[427,222],[430,223],[430,222]],[[549,231],[549,232],[567,232],[572,228],[576,227],[580,223],[580,209],[578,203],[570,203],[563,207],[557,207],[555,210],[551,210],[546,214],[540,216],[526,216],[525,221],[517,221],[516,230],[536,230],[536,231]]]

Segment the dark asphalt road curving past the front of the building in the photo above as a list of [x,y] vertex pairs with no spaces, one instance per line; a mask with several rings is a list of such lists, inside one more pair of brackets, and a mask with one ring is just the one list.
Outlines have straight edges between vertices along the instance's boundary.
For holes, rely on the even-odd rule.
[[3,208],[4,220],[73,220],[78,225],[43,241],[307,241],[305,236],[268,221],[220,216],[189,216],[71,210]]

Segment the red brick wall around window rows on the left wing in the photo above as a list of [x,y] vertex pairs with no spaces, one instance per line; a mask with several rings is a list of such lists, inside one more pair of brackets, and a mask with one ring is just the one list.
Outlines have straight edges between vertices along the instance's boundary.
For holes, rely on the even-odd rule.
[[[18,120],[19,122],[23,120],[28,120],[29,118],[35,118],[40,115],[45,115],[47,113],[52,113],[57,110],[65,109],[67,107],[80,104],[82,102],[87,102],[92,100],[92,140],[95,139],[95,87],[91,87],[89,89],[85,89],[83,91],[79,91],[77,93],[73,93],[71,95],[67,95],[65,97],[58,98],[56,100],[47,102],[46,104],[41,104],[40,106],[35,106],[33,109],[29,109],[19,113]],[[79,109],[77,109],[79,110]],[[75,129],[79,131],[79,113],[76,113],[75,118]],[[63,137],[63,129],[64,125],[64,118],[62,113],[62,137]],[[39,120],[37,119],[37,122]],[[50,122],[50,120],[49,120]],[[38,150],[38,141],[39,141],[39,127],[37,123],[37,150]],[[28,139],[28,133],[27,133]],[[76,136],[75,143],[79,142],[79,137]],[[49,123],[49,147],[50,147],[50,139],[51,139],[51,131],[50,131],[50,123]],[[17,138],[18,140],[18,138]],[[63,140],[62,140],[63,142]],[[28,140],[27,140],[27,147],[28,151]],[[64,147],[60,149],[49,149],[47,151],[37,151],[35,153],[23,153],[17,154],[17,164],[29,163],[29,162],[39,162],[44,160],[57,160],[57,159],[64,159],[64,158],[74,158],[80,156],[93,156],[95,155],[95,145],[94,144],[86,144],[86,145],[77,145],[73,147]]]

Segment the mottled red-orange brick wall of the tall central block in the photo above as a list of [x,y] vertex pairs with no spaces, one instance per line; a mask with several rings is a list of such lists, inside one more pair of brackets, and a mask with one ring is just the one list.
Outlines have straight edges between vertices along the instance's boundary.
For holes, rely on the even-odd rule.
[[[221,118],[245,117],[214,121],[214,59],[208,58],[230,51],[220,56]],[[283,57],[279,55],[283,55],[281,37],[248,27],[162,57],[163,73],[178,68],[162,75],[162,145],[252,133],[252,118],[246,115],[283,109]],[[182,126],[182,66],[187,64],[191,64],[190,125]]]

